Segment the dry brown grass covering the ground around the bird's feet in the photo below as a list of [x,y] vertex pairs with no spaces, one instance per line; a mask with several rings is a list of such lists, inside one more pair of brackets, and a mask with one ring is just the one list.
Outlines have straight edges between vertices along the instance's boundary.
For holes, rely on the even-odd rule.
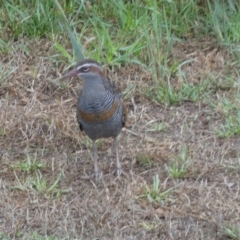
[[[99,144],[103,178],[82,180],[92,173],[93,163],[90,142],[80,135],[75,119],[81,82],[68,80],[62,88],[51,83],[63,73],[62,64],[49,61],[51,44],[28,47],[29,55],[14,49],[1,56],[5,71],[17,69],[0,86],[0,233],[7,239],[34,239],[34,232],[55,239],[228,239],[224,226],[239,225],[240,171],[226,165],[237,163],[240,140],[215,135],[218,113],[204,103],[168,108],[153,103],[141,93],[151,83],[150,74],[136,66],[118,69],[112,78],[122,89],[133,86],[126,99],[129,121],[121,135],[125,174],[112,174],[115,160],[107,139]],[[202,69],[201,58],[195,67],[185,68],[189,79]],[[147,132],[151,123],[161,121],[164,131]],[[190,160],[187,174],[172,179],[167,166],[184,146]],[[47,167],[30,172],[14,167],[27,155]],[[150,158],[152,166],[141,165],[139,156]],[[59,173],[55,192],[24,185],[38,174],[50,187]],[[156,174],[161,192],[173,188],[162,203],[146,198]]]

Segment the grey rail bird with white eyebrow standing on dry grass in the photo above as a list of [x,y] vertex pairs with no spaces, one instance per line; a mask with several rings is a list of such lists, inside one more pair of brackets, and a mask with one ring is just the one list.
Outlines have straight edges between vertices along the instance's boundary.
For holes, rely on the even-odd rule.
[[83,80],[76,116],[80,130],[92,140],[95,178],[100,177],[96,145],[100,138],[113,138],[116,173],[120,175],[122,171],[118,153],[119,135],[126,122],[126,108],[120,89],[104,74],[102,66],[93,59],[79,61],[61,79],[68,77]]

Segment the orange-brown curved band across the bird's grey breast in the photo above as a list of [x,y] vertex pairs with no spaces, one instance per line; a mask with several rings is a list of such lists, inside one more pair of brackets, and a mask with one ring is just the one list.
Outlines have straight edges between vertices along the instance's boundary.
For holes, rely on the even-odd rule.
[[118,108],[119,102],[116,100],[112,107],[101,113],[88,113],[78,109],[79,116],[86,122],[102,122],[110,119]]

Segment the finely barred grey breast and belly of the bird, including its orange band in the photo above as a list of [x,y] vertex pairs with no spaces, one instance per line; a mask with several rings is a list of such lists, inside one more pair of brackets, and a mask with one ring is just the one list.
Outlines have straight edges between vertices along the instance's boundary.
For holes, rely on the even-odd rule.
[[[78,99],[78,122],[91,139],[116,137],[123,126],[122,98],[118,88],[108,79],[102,78],[101,84],[101,91],[93,91],[93,85],[85,84]],[[93,94],[86,94],[87,91]]]

